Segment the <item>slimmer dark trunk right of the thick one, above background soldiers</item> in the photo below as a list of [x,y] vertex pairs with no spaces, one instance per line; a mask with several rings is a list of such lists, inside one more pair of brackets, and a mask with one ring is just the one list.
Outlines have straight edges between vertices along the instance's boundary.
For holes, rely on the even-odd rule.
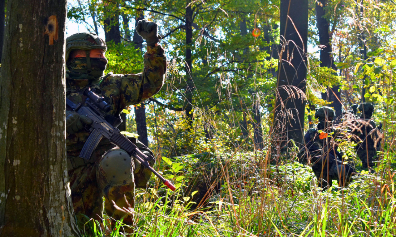
[[[319,0],[316,4],[316,27],[319,33],[319,44],[323,45],[323,48],[320,50],[320,66],[337,70],[337,67],[334,65],[333,50],[330,44],[329,23],[326,18],[324,18],[324,7],[326,4],[327,0]],[[327,88],[327,93],[322,94],[322,99],[327,99],[329,105],[334,107],[336,118],[341,118],[342,115],[342,103],[340,101],[341,92],[339,89],[339,85],[335,85],[331,88]]]

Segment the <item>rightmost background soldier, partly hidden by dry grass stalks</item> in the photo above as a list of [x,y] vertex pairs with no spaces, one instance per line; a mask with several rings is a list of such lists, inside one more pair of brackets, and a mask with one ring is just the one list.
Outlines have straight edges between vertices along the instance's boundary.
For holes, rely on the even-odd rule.
[[373,115],[374,106],[371,103],[361,103],[358,107],[361,112],[360,118],[356,120],[357,128],[354,130],[356,145],[356,154],[362,161],[364,169],[371,169],[374,166],[374,160],[377,160],[377,151],[381,149],[381,132],[377,129]]

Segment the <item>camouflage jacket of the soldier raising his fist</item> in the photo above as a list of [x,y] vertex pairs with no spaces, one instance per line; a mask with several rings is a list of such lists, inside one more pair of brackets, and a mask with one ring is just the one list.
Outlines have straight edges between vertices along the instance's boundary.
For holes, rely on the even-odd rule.
[[[74,103],[82,103],[86,99],[83,92],[86,88],[95,88],[95,93],[103,96],[109,103],[109,114],[118,116],[128,105],[138,104],[156,94],[164,84],[166,73],[166,57],[161,46],[147,47],[144,55],[144,68],[138,74],[108,74],[99,79],[90,78],[86,74],[66,71],[66,96]],[[71,110],[69,107],[67,110]],[[68,153],[78,153],[89,136],[82,131],[75,134],[66,134]],[[102,139],[101,145],[110,143]]]

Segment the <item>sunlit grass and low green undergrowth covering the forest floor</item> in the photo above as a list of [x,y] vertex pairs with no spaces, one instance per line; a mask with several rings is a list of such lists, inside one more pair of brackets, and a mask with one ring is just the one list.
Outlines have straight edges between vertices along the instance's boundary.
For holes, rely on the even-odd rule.
[[[346,188],[322,191],[310,167],[293,159],[266,166],[266,152],[193,154],[163,158],[158,179],[136,190],[131,236],[394,236],[394,154],[377,173],[362,170]],[[358,164],[357,164],[358,165]],[[108,220],[109,217],[107,217]],[[106,223],[105,223],[106,224]],[[122,224],[107,236],[124,236]],[[106,236],[96,225],[96,235]],[[86,236],[89,236],[88,234]]]

